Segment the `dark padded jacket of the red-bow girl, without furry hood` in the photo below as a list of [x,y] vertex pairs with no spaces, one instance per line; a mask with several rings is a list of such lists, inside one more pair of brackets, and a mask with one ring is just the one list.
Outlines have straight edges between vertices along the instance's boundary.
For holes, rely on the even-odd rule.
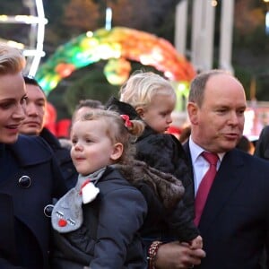
[[138,230],[147,204],[117,169],[108,167],[96,184],[100,194],[82,204],[83,222],[78,230],[55,230],[53,269],[145,269],[143,243]]

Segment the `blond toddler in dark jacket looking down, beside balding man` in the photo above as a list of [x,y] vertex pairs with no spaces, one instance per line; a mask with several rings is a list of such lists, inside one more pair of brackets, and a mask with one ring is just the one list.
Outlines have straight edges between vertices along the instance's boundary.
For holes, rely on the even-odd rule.
[[[186,241],[191,234],[193,238],[198,234],[195,224],[191,224],[194,219],[194,186],[187,156],[181,143],[174,135],[165,134],[172,122],[171,113],[176,106],[176,100],[176,92],[171,83],[161,75],[152,72],[135,72],[122,86],[120,100],[111,98],[106,108],[128,114],[132,119],[142,119],[145,129],[135,142],[135,159],[172,174],[182,181],[185,187],[184,203],[180,201],[177,208],[178,212],[184,213],[189,220],[188,227],[192,227],[179,232],[180,241]],[[149,249],[152,243],[154,245],[155,240],[169,242],[178,239],[178,233],[168,228],[165,218],[159,218],[144,226],[142,236]],[[187,264],[191,265],[190,257],[187,256],[186,259],[189,260]],[[169,268],[169,265],[163,268]]]

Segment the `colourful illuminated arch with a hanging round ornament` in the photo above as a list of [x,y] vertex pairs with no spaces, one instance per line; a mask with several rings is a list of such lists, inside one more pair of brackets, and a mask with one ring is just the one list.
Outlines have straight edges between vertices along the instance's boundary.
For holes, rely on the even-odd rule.
[[60,46],[40,65],[36,78],[48,94],[74,70],[100,60],[108,60],[104,73],[108,82],[115,84],[129,75],[131,65],[127,60],[151,65],[172,82],[187,83],[195,76],[193,66],[166,39],[141,30],[115,27],[89,31]]

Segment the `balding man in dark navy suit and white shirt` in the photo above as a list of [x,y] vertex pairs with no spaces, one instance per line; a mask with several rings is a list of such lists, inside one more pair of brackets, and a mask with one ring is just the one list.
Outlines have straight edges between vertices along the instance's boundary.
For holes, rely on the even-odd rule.
[[[202,152],[215,153],[218,161],[197,221],[206,256],[200,265],[196,256],[195,266],[189,267],[258,269],[263,250],[268,252],[269,166],[236,149],[246,107],[242,84],[225,71],[201,73],[191,82],[187,104],[191,135],[184,147],[193,172],[195,206],[200,205],[196,203],[198,189],[209,166]],[[183,261],[190,261],[191,254],[183,247],[176,242],[161,245],[156,268],[187,268]],[[265,266],[269,268],[269,263]]]

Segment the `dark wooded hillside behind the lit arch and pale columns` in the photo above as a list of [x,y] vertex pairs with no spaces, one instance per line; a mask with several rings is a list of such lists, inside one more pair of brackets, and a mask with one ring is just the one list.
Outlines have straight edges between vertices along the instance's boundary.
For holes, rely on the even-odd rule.
[[[192,0],[189,1],[191,4]],[[172,0],[44,0],[48,24],[44,42],[46,56],[42,58],[42,62],[46,61],[58,46],[70,39],[76,38],[87,30],[103,28],[106,6],[110,6],[113,10],[112,27],[125,26],[148,31],[168,39],[173,44],[175,6],[178,2]],[[221,0],[218,2],[214,67],[218,67],[220,36]],[[235,1],[232,65],[235,74],[245,86],[248,100],[251,81],[255,80],[256,100],[269,101],[269,36],[265,34],[267,7],[262,0]],[[0,14],[29,14],[29,9],[23,1],[1,1]],[[190,29],[191,18],[188,24]],[[30,39],[29,32],[27,25],[0,23],[0,39],[13,39],[27,44]],[[70,117],[79,99],[91,98],[105,102],[111,94],[117,94],[118,87],[110,85],[102,73],[104,65],[105,63],[99,62],[75,71],[49,93],[48,100],[56,106],[58,119]],[[132,63],[133,69],[141,67],[139,63]]]

